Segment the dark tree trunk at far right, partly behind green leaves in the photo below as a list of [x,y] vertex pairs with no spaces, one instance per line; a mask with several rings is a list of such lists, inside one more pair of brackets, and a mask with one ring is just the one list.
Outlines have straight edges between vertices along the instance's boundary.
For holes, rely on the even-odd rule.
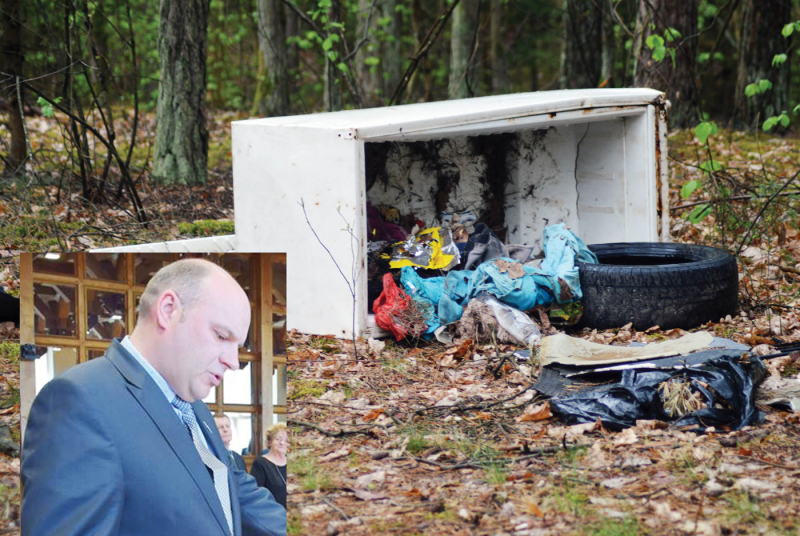
[[[768,117],[789,112],[791,38],[784,38],[781,29],[791,21],[790,0],[747,0],[744,4],[739,65],[736,80],[736,119],[758,128]],[[781,65],[772,66],[776,54],[786,53]],[[748,84],[759,80],[772,82],[772,89],[747,97]]]

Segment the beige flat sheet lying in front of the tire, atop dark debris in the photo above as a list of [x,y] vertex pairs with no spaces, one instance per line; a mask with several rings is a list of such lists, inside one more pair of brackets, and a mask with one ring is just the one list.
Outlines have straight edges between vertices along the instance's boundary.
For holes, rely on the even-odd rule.
[[626,363],[673,355],[687,355],[708,348],[714,336],[707,331],[687,333],[678,339],[650,343],[646,346],[610,346],[558,333],[542,339],[539,356],[543,365],[599,365]]

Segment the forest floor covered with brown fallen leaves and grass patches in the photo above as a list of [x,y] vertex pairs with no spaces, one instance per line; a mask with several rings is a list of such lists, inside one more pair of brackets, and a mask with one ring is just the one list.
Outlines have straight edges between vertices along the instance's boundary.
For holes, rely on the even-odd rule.
[[[233,232],[229,122],[236,117],[212,118],[206,186],[154,187],[146,166],[137,171],[148,225],[131,217],[124,199],[89,204],[74,181],[59,187],[63,155],[49,138],[57,125],[34,119],[36,173],[0,193],[5,289],[18,288],[20,251]],[[152,131],[152,121],[145,116],[142,128]],[[800,341],[798,140],[721,131],[709,151],[691,132],[675,131],[669,146],[672,239],[739,254],[740,312],[702,329],[766,351]],[[701,166],[721,169],[712,176]],[[573,334],[624,344],[680,332]],[[0,326],[2,337],[19,340]],[[528,389],[536,367],[520,362],[491,373],[511,347],[378,346],[360,341],[356,361],[352,343],[291,335],[290,534],[796,534],[800,527],[796,414],[763,407],[763,424],[701,435],[654,423],[624,432],[568,427],[547,417]],[[0,366],[0,424],[18,438],[18,355],[0,352]],[[797,377],[793,358],[772,366],[774,375]],[[0,534],[18,532],[18,474],[19,458],[0,454]]]

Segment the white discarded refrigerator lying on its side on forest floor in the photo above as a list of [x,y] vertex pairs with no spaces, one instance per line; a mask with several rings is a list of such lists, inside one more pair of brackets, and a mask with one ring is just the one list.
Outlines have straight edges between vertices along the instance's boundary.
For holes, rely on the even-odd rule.
[[237,121],[229,240],[287,253],[289,329],[362,335],[368,201],[428,227],[472,211],[537,249],[557,222],[587,244],[667,241],[665,108],[651,89],[587,89]]

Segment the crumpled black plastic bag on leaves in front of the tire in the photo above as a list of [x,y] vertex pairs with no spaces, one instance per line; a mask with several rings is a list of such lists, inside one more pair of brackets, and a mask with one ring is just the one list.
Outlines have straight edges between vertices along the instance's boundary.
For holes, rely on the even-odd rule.
[[[671,422],[678,427],[713,426],[731,430],[762,422],[763,415],[755,406],[755,387],[766,375],[764,364],[756,356],[742,360],[736,350],[722,352],[726,355],[697,368],[625,370],[618,383],[551,399],[550,410],[568,424],[600,419],[603,426],[612,430],[634,426],[640,419]],[[702,395],[706,407],[670,417],[658,388],[671,378],[690,380],[693,390]]]

